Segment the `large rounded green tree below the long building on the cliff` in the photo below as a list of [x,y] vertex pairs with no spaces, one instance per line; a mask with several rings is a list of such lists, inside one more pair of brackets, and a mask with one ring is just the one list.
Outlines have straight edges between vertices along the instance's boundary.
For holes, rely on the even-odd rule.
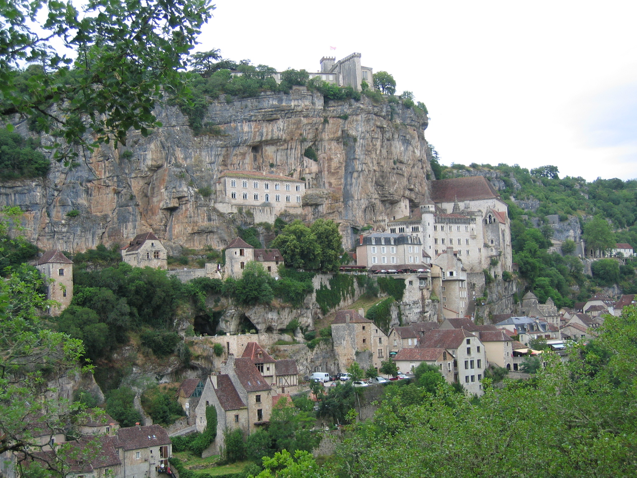
[[285,226],[271,246],[281,251],[287,266],[297,269],[320,266],[322,251],[317,236],[299,219]]

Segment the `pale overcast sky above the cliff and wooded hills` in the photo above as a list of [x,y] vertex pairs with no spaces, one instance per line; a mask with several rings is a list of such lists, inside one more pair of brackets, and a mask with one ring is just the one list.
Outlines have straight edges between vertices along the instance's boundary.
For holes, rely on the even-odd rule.
[[427,105],[443,164],[629,179],[636,13],[635,1],[218,0],[197,50],[308,71],[360,52]]

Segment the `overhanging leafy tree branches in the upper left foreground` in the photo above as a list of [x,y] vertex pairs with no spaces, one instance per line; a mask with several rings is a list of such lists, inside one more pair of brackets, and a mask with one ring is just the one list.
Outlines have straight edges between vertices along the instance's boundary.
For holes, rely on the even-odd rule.
[[[45,22],[32,29],[29,18],[45,5]],[[125,143],[131,128],[148,134],[159,126],[153,110],[163,92],[185,92],[178,69],[212,9],[208,0],[96,0],[82,11],[64,2],[3,4],[0,115],[21,115],[66,145]],[[46,68],[21,71],[24,63]]]

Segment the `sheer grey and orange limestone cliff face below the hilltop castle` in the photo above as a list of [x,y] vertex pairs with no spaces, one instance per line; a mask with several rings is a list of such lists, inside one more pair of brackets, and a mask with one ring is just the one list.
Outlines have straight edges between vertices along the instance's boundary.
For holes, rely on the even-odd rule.
[[[153,231],[175,254],[180,247],[223,248],[237,224],[250,223],[215,208],[216,181],[225,170],[305,178],[309,191],[297,211],[308,221],[340,222],[346,247],[350,226],[395,215],[404,199],[416,206],[427,194],[427,118],[402,105],[375,105],[366,97],[326,103],[304,87],[220,98],[206,119],[216,126],[201,136],[193,136],[178,108],[156,113],[163,126],[146,138],[131,131],[127,145],[80,155],[73,168],[52,161],[47,178],[3,182],[0,205],[25,211],[27,238],[42,249],[79,252]],[[18,125],[28,134],[25,128]],[[303,156],[308,147],[318,161]],[[68,217],[72,210],[80,215]]]

